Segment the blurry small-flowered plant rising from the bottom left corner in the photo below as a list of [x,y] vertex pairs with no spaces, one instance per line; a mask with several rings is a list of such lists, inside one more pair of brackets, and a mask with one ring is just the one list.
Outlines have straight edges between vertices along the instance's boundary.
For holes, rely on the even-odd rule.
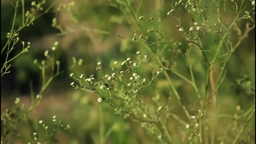
[[[42,73],[42,87],[35,97],[33,84],[30,83],[31,105],[26,108],[25,105],[21,103],[21,98],[16,98],[14,107],[10,107],[10,109],[1,113],[1,127],[3,128],[3,134],[1,136],[2,143],[9,143],[10,141],[19,139],[18,125],[24,122],[31,123],[30,126],[35,130],[33,132],[33,141],[31,143],[39,142],[38,125],[42,124],[43,121],[39,121],[39,123],[37,123],[36,117],[33,117],[32,119],[28,117],[31,115],[32,111],[36,111],[36,107],[41,103],[45,89],[49,87],[55,77],[63,73],[63,71],[60,71],[60,62],[57,61],[55,57],[57,44],[57,41],[53,44],[53,47],[55,47],[54,50],[46,50],[44,52],[44,60],[41,62],[37,59],[34,60],[34,64],[37,65]],[[49,65],[51,65],[50,75],[47,74]],[[32,121],[35,123],[32,123]],[[56,133],[69,129],[69,125],[64,125],[61,121],[57,121],[56,116],[53,117],[53,123],[54,128],[50,134],[48,134],[48,126],[42,124],[45,129],[45,137],[43,139],[41,138],[40,142],[44,141],[44,143],[47,143]]]

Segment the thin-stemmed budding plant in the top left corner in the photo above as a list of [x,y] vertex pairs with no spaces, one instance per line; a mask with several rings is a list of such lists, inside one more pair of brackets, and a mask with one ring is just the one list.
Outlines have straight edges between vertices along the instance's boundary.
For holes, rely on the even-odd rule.
[[[1,49],[1,56],[5,57],[5,61],[1,62],[1,79],[5,74],[10,73],[11,62],[22,55],[22,53],[28,52],[31,47],[31,42],[22,41],[19,38],[19,33],[22,29],[33,25],[33,22],[36,21],[39,17],[43,16],[46,13],[50,12],[50,9],[53,7],[54,3],[51,3],[49,7],[45,8],[45,0],[36,2],[31,2],[31,9],[25,11],[25,1],[16,0],[14,3],[15,11],[13,17],[13,23],[11,25],[10,32],[6,34],[7,40],[4,46]],[[19,7],[21,6],[22,10],[22,22],[19,27],[15,27],[17,21],[17,13],[19,13]],[[22,47],[22,49],[18,49]],[[13,56],[13,53],[14,56]],[[10,57],[12,56],[12,57]]]

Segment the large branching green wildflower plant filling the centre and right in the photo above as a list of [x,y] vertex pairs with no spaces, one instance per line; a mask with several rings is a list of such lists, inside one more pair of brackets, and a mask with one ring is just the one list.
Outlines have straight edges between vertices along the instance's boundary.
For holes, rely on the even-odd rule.
[[[123,61],[116,61],[106,69],[102,68],[102,63],[98,63],[96,75],[75,76],[72,74],[71,77],[74,82],[71,83],[71,86],[75,89],[96,93],[98,103],[106,103],[114,107],[115,113],[123,115],[124,118],[130,116],[132,119],[140,121],[142,127],[162,143],[172,143],[174,139],[173,134],[170,134],[168,127],[166,127],[168,119],[175,119],[186,131],[187,136],[183,142],[205,143],[210,140],[211,143],[214,143],[216,141],[214,129],[216,129],[218,121],[218,113],[214,112],[217,110],[219,88],[222,87],[225,79],[226,65],[230,57],[255,27],[255,21],[252,19],[252,15],[255,14],[255,1],[250,3],[243,0],[211,1],[210,3],[216,8],[214,9],[215,13],[211,12],[212,9],[210,8],[213,7],[207,5],[205,1],[175,1],[170,4],[168,11],[162,10],[163,3],[165,2],[156,2],[158,13],[154,17],[139,13],[139,9],[143,7],[143,1],[136,10],[133,9],[135,3],[132,1],[110,2],[112,7],[122,11],[131,29],[133,29],[133,36],[129,40],[139,47],[138,52],[136,52],[138,61],[132,61],[133,57],[131,57],[123,59]],[[234,8],[232,10],[232,13],[236,14],[234,18],[230,19],[225,15],[226,7]],[[193,20],[192,23],[183,23],[183,16],[179,14],[181,9],[186,11],[188,17]],[[169,34],[161,26],[163,19],[176,21],[177,34],[181,35],[179,40],[168,37]],[[246,20],[246,27],[243,31],[241,26],[238,26],[242,20]],[[97,33],[115,35],[83,25],[81,29],[84,28]],[[234,31],[238,33],[235,42],[232,41],[232,39],[236,39],[232,37]],[[67,29],[67,32],[73,31]],[[215,45],[208,46],[207,39],[212,38]],[[185,48],[179,49],[181,46]],[[143,74],[138,73],[138,69],[141,68],[140,65],[144,61],[141,53],[144,52],[148,53],[144,58],[149,57],[151,61],[155,62],[153,66],[155,71],[149,80],[147,77],[144,78]],[[184,62],[183,68],[177,66],[179,61]],[[203,72],[199,73],[197,68]],[[219,72],[216,72],[216,69]],[[154,106],[155,111],[152,112],[150,111],[152,107],[148,108],[150,106],[145,103],[141,90],[148,86],[155,88],[151,85],[153,85],[153,81],[156,83],[160,81],[161,78],[156,79],[159,75],[165,77],[171,92],[168,102],[165,104],[160,102],[159,96],[153,97],[152,100],[157,106]],[[185,98],[182,97],[182,92],[178,90],[179,86],[176,86],[175,83],[178,80],[187,83],[185,85],[189,85],[193,89],[195,96],[193,98],[196,99],[194,109],[188,108],[185,103]],[[251,87],[251,89],[253,91],[254,88]],[[180,113],[173,113],[170,110],[172,96],[181,106]],[[251,115],[247,122],[251,121],[251,116],[254,115],[252,107],[249,110]],[[197,110],[199,114],[194,116],[192,113]],[[211,115],[206,113],[211,113]],[[165,117],[163,117],[164,114]],[[215,120],[210,123],[210,119]],[[210,128],[213,129],[212,132],[208,131]],[[237,143],[243,130],[237,134],[236,139],[228,141]],[[208,136],[208,133],[211,133],[211,136]]]

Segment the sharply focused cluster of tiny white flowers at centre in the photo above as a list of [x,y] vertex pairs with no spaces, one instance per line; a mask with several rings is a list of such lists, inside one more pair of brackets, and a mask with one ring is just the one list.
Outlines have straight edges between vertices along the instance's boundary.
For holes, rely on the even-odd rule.
[[[124,61],[114,61],[113,67],[110,70],[101,70],[102,62],[97,63],[96,70],[99,71],[97,78],[94,75],[86,77],[84,74],[76,77],[74,74],[70,74],[74,80],[71,86],[75,89],[82,89],[84,91],[97,93],[99,95],[98,103],[108,103],[109,105],[117,106],[118,103],[113,99],[118,99],[125,103],[124,106],[120,106],[119,110],[125,110],[125,107],[129,107],[136,103],[138,100],[138,93],[141,89],[153,85],[153,80],[163,70],[157,70],[153,72],[151,80],[147,80],[141,77],[138,73],[138,68],[143,61],[148,58],[148,55],[141,56],[141,52],[137,51],[137,61],[132,61],[132,58],[128,57]],[[115,103],[115,104],[114,104]]]

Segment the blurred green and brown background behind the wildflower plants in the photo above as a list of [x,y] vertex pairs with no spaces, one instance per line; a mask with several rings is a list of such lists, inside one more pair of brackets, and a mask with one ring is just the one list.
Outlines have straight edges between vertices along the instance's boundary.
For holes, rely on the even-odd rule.
[[[49,1],[48,1],[49,2]],[[70,3],[71,1],[57,1],[54,9],[60,3]],[[114,115],[112,107],[102,105],[102,118],[99,117],[99,104],[97,103],[97,97],[94,94],[85,93],[83,91],[74,90],[70,83],[72,79],[69,74],[75,73],[76,75],[85,74],[90,76],[95,73],[95,67],[97,62],[102,61],[103,65],[108,67],[109,63],[114,61],[122,61],[127,57],[135,57],[136,51],[146,53],[142,45],[133,43],[132,37],[136,33],[136,29],[131,29],[130,22],[127,21],[127,17],[118,8],[113,7],[110,1],[94,0],[94,1],[74,1],[75,8],[74,13],[78,23],[83,23],[89,28],[100,29],[102,31],[110,32],[111,34],[98,33],[90,29],[77,29],[73,32],[57,35],[60,33],[59,29],[52,27],[52,20],[54,17],[62,27],[72,27],[75,22],[70,19],[70,15],[65,11],[58,13],[48,13],[40,17],[34,22],[34,25],[23,29],[20,32],[20,39],[25,41],[31,41],[32,47],[30,51],[19,56],[11,64],[11,73],[5,75],[1,80],[1,112],[14,105],[16,97],[21,98],[21,102],[25,105],[31,103],[30,99],[30,82],[33,83],[34,92],[38,92],[40,88],[40,70],[33,64],[34,59],[43,59],[44,51],[50,50],[55,41],[59,41],[59,47],[57,49],[57,58],[60,61],[61,70],[65,70],[65,73],[58,76],[46,89],[43,94],[43,100],[36,110],[32,112],[31,117],[37,117],[37,119],[43,119],[45,123],[51,123],[52,116],[56,115],[62,122],[71,125],[71,129],[62,132],[56,136],[57,143],[93,143],[97,142],[99,135],[99,123],[104,123],[104,129],[112,129],[106,143],[156,143],[156,139],[148,135],[141,123],[132,122],[131,119]],[[157,2],[144,1],[141,9],[138,11],[138,15],[144,15],[145,17],[162,16],[162,29],[165,31],[168,38],[172,40],[184,39],[183,36],[177,32],[177,21],[173,17],[166,17],[167,11],[173,8],[175,1],[163,1],[161,11],[158,11]],[[31,8],[31,1],[25,1],[26,9]],[[132,2],[132,7],[137,8],[140,1]],[[214,4],[210,1],[203,1],[207,5],[208,12],[216,13]],[[226,2],[226,16],[230,21],[234,19],[235,11],[232,8],[230,1]],[[49,3],[48,3],[49,5]],[[178,9],[177,13],[182,16],[182,24],[184,27],[188,27],[193,23],[191,16],[185,13],[184,9]],[[12,17],[14,15],[14,8],[10,4],[10,1],[1,1],[1,47],[5,44],[7,38],[6,33],[9,32],[12,23]],[[19,17],[20,16],[20,17]],[[254,16],[254,15],[253,15]],[[132,19],[132,17],[128,17]],[[209,15],[208,19],[213,19]],[[254,17],[253,17],[254,19]],[[254,19],[255,20],[255,19]],[[18,13],[18,20],[15,26],[18,27],[21,21],[21,13]],[[156,25],[158,25],[156,23]],[[242,20],[238,23],[242,29],[245,28],[246,20]],[[147,29],[148,26],[145,26]],[[235,32],[234,32],[235,33]],[[123,38],[115,37],[113,34],[121,35]],[[234,34],[235,35],[235,34]],[[236,36],[234,36],[234,40]],[[207,36],[202,45],[213,49],[214,44],[213,37]],[[178,46],[182,52],[187,49],[186,45]],[[171,47],[170,47],[171,49]],[[171,52],[165,53],[170,55]],[[82,58],[83,65],[76,69],[70,70],[72,65],[72,57]],[[211,56],[209,56],[211,57]],[[184,71],[185,75],[189,75],[188,69],[183,67],[184,61],[182,56],[178,57],[177,65],[181,71]],[[3,57],[1,57],[2,64]],[[150,76],[150,70],[152,65],[142,65],[140,70],[145,76]],[[247,87],[241,87],[237,85],[236,79],[239,79],[242,74],[246,74],[249,77],[253,87],[255,83],[255,32],[249,33],[248,37],[242,41],[242,44],[236,52],[230,58],[227,64],[226,78],[220,88],[219,97],[219,110],[221,113],[239,113],[237,112],[237,106],[241,107],[240,113],[246,111],[254,104],[254,94],[248,90]],[[195,70],[199,81],[203,81],[201,77],[200,68]],[[187,72],[186,72],[187,71]],[[172,77],[172,76],[171,76]],[[178,91],[189,107],[194,107],[195,104],[193,97],[190,97],[191,89],[188,88],[183,81],[178,77],[173,76],[176,80],[175,85]],[[158,81],[159,85],[156,88],[159,91],[161,97],[167,98],[169,87],[166,84],[164,77],[160,77]],[[154,88],[147,89],[145,92],[147,97],[155,96]],[[179,113],[179,106],[173,101],[173,111]],[[191,108],[192,109],[192,108]],[[181,116],[182,117],[182,116]],[[254,119],[253,119],[254,120]],[[225,125],[223,137],[232,133],[232,127],[234,125],[229,124],[229,120],[222,121],[218,133],[222,133],[221,126]],[[229,124],[229,125],[227,125]],[[175,127],[175,122],[173,122]],[[178,129],[178,127],[175,127]],[[177,129],[171,129],[172,133],[175,133]],[[255,140],[254,124],[250,127],[251,131],[248,132],[251,136],[251,141]],[[32,134],[28,125],[21,123],[20,131],[21,138],[15,143],[25,143],[26,140],[31,140]],[[225,136],[224,136],[225,135]],[[222,137],[220,137],[222,139]]]

